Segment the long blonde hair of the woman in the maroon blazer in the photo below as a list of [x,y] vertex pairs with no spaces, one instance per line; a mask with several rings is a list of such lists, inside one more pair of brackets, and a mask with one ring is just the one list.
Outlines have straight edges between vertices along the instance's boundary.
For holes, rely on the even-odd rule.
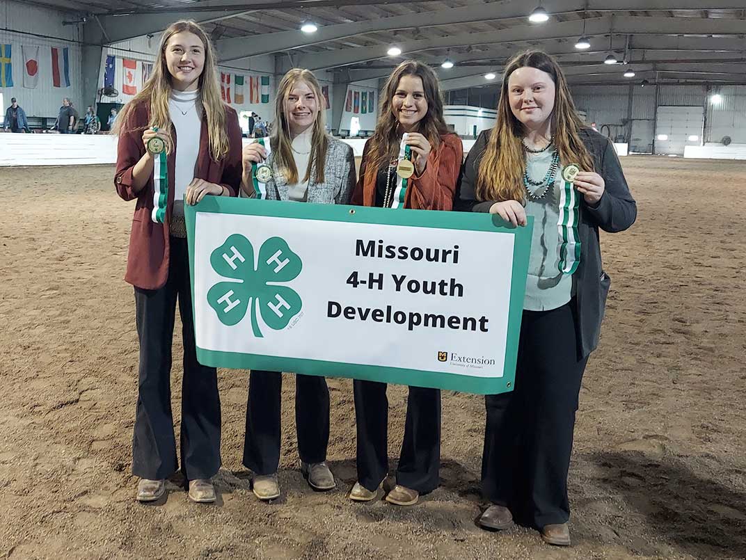
[[[220,98],[220,86],[217,78],[216,54],[210,38],[204,32],[204,29],[191,20],[181,20],[172,23],[166,31],[163,31],[163,37],[160,38],[160,47],[158,48],[158,60],[153,65],[153,72],[148,81],[143,84],[140,93],[122,108],[121,113],[114,122],[112,133],[119,134],[125,130],[128,125],[128,119],[135,107],[140,104],[149,104],[150,122],[148,128],[158,127],[165,130],[171,129],[171,116],[169,115],[169,99],[171,98],[171,74],[169,67],[166,65],[166,45],[169,39],[177,33],[192,33],[201,40],[204,45],[204,68],[199,77],[198,101],[204,107],[204,115],[207,118],[207,136],[210,139],[210,155],[213,160],[219,161],[228,155],[230,145],[228,142],[228,133],[225,130],[225,104]],[[143,129],[144,130],[144,129]],[[171,151],[169,146],[169,152]]]

